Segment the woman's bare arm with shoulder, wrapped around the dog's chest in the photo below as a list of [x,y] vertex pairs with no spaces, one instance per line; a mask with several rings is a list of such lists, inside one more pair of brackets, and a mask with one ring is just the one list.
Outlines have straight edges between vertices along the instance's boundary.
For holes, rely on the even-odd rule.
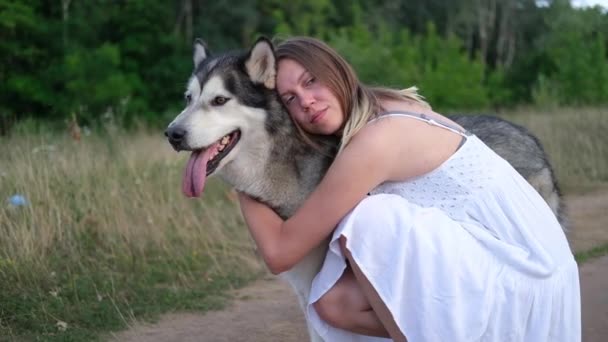
[[446,155],[445,130],[437,130],[403,119],[383,119],[364,127],[286,221],[264,204],[239,196],[245,221],[270,271],[284,272],[302,260],[380,183],[413,177],[443,162],[453,151]]

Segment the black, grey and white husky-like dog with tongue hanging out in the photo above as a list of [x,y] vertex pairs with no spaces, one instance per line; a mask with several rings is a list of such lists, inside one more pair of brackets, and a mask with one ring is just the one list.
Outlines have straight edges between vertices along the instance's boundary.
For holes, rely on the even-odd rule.
[[[182,191],[199,197],[206,178],[219,176],[287,219],[320,182],[337,153],[338,139],[315,137],[313,147],[300,137],[275,89],[276,57],[268,39],[217,56],[197,39],[193,60],[186,107],[165,131],[175,150],[191,151]],[[538,139],[498,118],[453,119],[511,162],[556,215],[563,215],[557,181]],[[281,274],[302,308],[326,250],[322,243]],[[310,325],[308,331],[312,341],[322,340]]]

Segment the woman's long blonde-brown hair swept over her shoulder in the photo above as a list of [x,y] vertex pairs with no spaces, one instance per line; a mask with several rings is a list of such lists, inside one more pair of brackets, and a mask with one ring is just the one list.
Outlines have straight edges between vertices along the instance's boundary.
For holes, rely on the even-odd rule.
[[[291,59],[302,65],[337,97],[345,115],[340,149],[365,126],[369,120],[384,111],[381,100],[411,100],[429,105],[418,94],[416,87],[397,90],[385,87],[370,87],[359,81],[350,64],[324,42],[311,37],[292,37],[277,45],[277,62]],[[297,123],[298,132],[305,141],[315,145],[310,134]]]

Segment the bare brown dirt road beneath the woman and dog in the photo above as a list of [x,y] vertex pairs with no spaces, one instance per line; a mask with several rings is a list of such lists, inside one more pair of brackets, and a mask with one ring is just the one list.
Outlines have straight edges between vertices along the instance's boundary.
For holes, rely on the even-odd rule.
[[[608,242],[608,191],[567,198],[575,251]],[[583,341],[608,340],[608,256],[580,267]],[[275,277],[238,291],[223,311],[207,314],[169,314],[156,324],[135,324],[113,334],[124,342],[245,342],[306,341],[302,313],[289,285]]]

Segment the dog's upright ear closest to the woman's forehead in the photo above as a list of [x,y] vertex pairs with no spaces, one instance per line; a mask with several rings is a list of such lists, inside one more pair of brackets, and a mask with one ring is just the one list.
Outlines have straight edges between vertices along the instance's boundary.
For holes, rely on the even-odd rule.
[[276,83],[276,58],[272,42],[265,37],[259,38],[245,61],[245,69],[251,80],[263,83],[268,89],[274,89]]

